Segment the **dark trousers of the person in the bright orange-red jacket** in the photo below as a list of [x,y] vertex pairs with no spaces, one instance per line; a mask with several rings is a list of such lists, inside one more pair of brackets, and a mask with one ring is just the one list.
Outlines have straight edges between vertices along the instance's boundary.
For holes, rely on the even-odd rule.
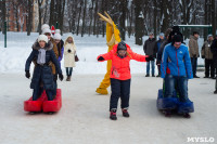
[[111,89],[112,95],[110,99],[110,110],[117,109],[118,99],[120,97],[120,107],[129,107],[129,94],[130,94],[130,81],[128,80],[118,80],[111,78]]

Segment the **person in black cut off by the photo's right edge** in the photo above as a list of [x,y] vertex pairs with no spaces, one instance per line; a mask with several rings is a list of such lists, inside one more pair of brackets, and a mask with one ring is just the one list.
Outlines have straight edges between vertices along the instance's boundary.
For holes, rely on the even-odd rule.
[[[210,45],[210,50],[213,52],[213,60],[214,60],[214,67],[217,68],[217,35],[215,36],[215,39]],[[215,91],[214,94],[217,94],[217,77],[216,77],[216,84],[215,84]]]

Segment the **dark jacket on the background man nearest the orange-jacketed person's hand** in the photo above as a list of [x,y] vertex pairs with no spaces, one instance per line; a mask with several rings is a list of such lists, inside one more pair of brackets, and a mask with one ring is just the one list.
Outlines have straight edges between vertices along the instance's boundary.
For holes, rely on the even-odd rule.
[[144,42],[143,50],[144,50],[145,55],[152,55],[153,57],[156,57],[157,43],[156,43],[155,38],[148,39]]

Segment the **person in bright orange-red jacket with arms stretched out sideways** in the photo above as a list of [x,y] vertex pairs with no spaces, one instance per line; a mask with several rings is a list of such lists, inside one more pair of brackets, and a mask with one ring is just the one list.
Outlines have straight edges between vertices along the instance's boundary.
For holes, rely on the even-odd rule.
[[130,95],[130,60],[136,60],[139,62],[149,62],[153,57],[145,55],[140,55],[133,53],[128,44],[125,42],[119,42],[115,44],[113,50],[108,53],[101,54],[98,56],[98,61],[103,62],[112,60],[111,68],[111,89],[112,95],[110,99],[110,118],[116,120],[116,110],[118,99],[122,100],[122,112],[124,117],[129,117],[128,107],[129,107],[129,95]]

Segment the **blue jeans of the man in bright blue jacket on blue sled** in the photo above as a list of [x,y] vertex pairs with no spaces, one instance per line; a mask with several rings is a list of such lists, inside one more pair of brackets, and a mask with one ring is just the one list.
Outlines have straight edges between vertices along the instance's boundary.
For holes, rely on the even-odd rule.
[[184,76],[166,75],[165,77],[165,94],[164,97],[173,97],[175,90],[179,93],[179,101],[187,102],[188,99],[188,79]]

